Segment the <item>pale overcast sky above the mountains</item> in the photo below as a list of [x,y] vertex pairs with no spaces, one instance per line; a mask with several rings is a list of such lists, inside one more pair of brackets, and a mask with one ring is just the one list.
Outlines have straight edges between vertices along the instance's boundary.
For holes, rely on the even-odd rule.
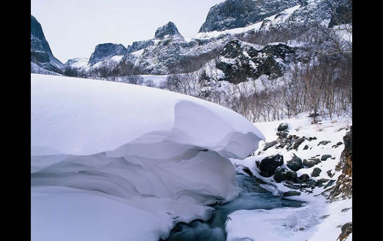
[[89,58],[97,44],[154,37],[169,21],[184,37],[198,32],[213,5],[223,0],[31,0],[53,55],[61,62]]

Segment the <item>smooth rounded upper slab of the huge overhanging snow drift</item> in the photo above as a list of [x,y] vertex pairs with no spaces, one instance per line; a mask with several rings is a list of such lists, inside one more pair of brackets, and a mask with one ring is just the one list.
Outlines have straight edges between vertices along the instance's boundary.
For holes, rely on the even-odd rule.
[[244,159],[261,139],[261,132],[241,115],[191,96],[126,83],[31,74],[33,156],[108,152],[123,157],[131,153],[124,150],[126,144],[167,141]]

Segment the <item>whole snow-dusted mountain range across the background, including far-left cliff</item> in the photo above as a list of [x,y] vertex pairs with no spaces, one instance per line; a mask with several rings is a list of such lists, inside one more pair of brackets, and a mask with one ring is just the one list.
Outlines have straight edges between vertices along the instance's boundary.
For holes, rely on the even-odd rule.
[[[339,15],[343,17],[339,18]],[[63,64],[53,56],[40,23],[31,15],[31,73],[65,74],[68,69],[86,73],[102,67],[117,75],[168,75],[198,70],[215,58],[216,68],[226,72],[222,80],[239,75],[255,77],[261,73],[279,76],[284,63],[296,60],[296,52],[300,51],[296,46],[280,44],[260,46],[256,50],[254,46],[240,43],[260,32],[294,30],[315,24],[331,27],[348,22],[352,22],[350,0],[225,0],[210,8],[199,32],[191,38],[184,38],[177,26],[168,22],[156,30],[153,39],[136,41],[126,48],[122,44],[99,44],[89,60],[70,59]],[[235,39],[241,41],[232,42]],[[249,55],[240,57],[244,52],[238,52],[238,48],[246,48]],[[228,53],[229,49],[234,52]],[[281,59],[281,56],[271,54],[271,49],[288,54],[278,62],[276,58]],[[271,57],[274,60],[269,58],[266,64],[258,65],[261,60],[257,57],[257,60],[252,60],[253,64],[246,62],[259,51],[274,56]],[[241,61],[230,64],[232,62],[227,60],[227,56],[236,56],[237,60],[239,58],[246,63],[243,66],[238,66]],[[234,72],[231,71],[233,66],[237,68]],[[230,74],[227,74],[229,70]]]

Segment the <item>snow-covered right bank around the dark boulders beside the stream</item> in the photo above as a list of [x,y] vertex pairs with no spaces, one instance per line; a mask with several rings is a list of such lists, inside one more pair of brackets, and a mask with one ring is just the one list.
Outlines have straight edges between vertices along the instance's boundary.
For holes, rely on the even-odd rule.
[[[310,124],[311,118],[306,116],[307,114],[302,114],[292,119],[255,123],[255,126],[265,135],[266,143],[277,139],[277,127],[281,123],[288,124],[289,135],[316,137],[316,140],[305,140],[296,151],[276,149],[275,147],[278,145],[262,151],[261,143],[260,149],[256,151],[256,155],[260,152],[259,155],[249,157],[244,161],[232,160],[232,162],[237,166],[249,167],[254,175],[267,183],[262,186],[275,195],[281,195],[293,189],[285,186],[284,183],[276,183],[273,177],[262,177],[255,163],[255,161],[274,154],[284,156],[284,167],[286,167],[286,161],[291,159],[292,153],[302,160],[315,156],[320,159],[322,155],[331,155],[331,158],[335,159],[322,161],[310,168],[299,169],[297,175],[300,176],[304,173],[310,175],[315,167],[319,167],[322,170],[319,176],[311,178],[337,180],[341,172],[335,172],[334,168],[344,150],[344,145],[340,145],[338,148],[334,148],[333,145],[343,142],[343,136],[352,126],[352,118],[335,117],[333,120],[322,118],[319,124]],[[330,141],[330,143],[320,145],[321,141]],[[303,150],[305,145],[308,146],[307,150]],[[335,173],[331,178],[327,174],[329,170]],[[324,189],[324,187],[316,187],[312,193],[302,192],[299,196],[288,197],[305,202],[299,208],[239,210],[230,214],[226,223],[227,241],[335,241],[341,233],[341,226],[352,222],[352,209],[350,209],[352,208],[352,198],[328,202],[324,196],[319,195]],[[347,241],[351,240],[352,236],[349,236]]]

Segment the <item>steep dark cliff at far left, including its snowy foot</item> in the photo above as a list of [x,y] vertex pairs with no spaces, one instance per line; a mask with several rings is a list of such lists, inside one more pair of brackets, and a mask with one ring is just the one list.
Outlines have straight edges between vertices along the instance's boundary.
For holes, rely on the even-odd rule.
[[[56,59],[45,39],[43,29],[37,19],[31,15],[31,63],[39,66],[48,72],[62,74],[65,65]],[[37,72],[35,72],[37,71]],[[31,73],[42,73],[38,68],[31,65]]]

